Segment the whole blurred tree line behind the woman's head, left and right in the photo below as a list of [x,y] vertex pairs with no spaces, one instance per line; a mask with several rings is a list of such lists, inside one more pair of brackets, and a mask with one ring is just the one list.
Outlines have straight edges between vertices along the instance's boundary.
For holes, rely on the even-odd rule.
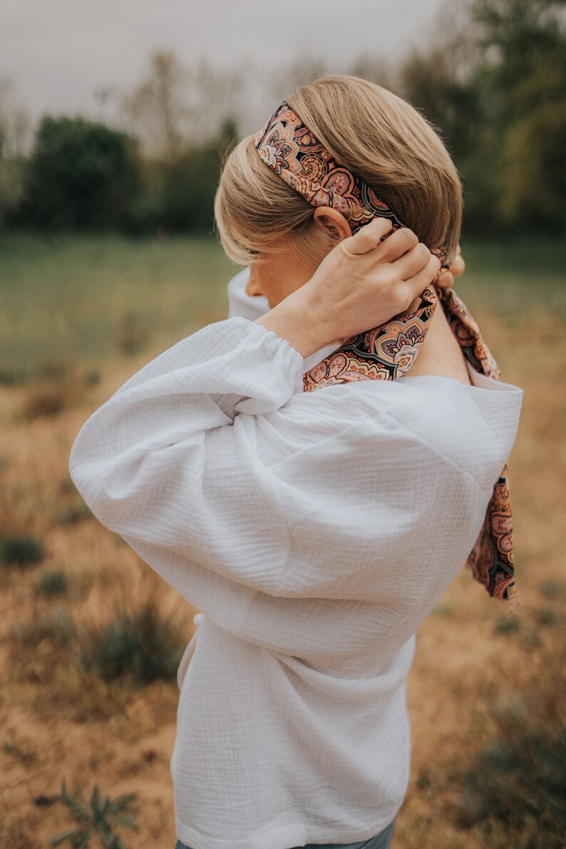
[[[399,93],[445,139],[464,183],[468,233],[563,233],[566,0],[469,0],[442,38],[395,67],[348,72]],[[329,72],[311,62],[311,75]],[[0,224],[44,231],[210,232],[221,162],[237,142],[244,79],[156,53],[109,122],[25,113],[0,86]],[[289,91],[304,65],[282,74]],[[238,100],[239,96],[239,100]]]

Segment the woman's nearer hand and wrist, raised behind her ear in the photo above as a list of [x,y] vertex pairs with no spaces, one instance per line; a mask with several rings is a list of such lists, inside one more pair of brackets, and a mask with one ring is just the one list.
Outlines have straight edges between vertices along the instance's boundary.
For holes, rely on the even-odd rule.
[[[404,312],[434,280],[440,261],[408,228],[376,218],[326,256],[308,283],[256,323],[303,357]],[[384,241],[382,241],[384,239]]]

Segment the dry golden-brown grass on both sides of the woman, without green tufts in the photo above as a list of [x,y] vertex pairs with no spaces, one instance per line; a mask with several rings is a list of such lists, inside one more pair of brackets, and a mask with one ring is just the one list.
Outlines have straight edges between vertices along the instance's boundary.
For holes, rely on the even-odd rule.
[[[481,800],[475,799],[475,807],[469,801],[474,790],[469,776],[486,768],[489,758],[482,761],[482,751],[508,739],[509,728],[530,734],[533,717],[547,739],[558,739],[553,706],[564,694],[557,658],[566,597],[561,500],[566,405],[556,387],[566,365],[566,341],[560,318],[551,321],[535,308],[532,293],[523,299],[525,290],[519,289],[512,301],[507,281],[503,309],[475,283],[475,289],[462,284],[463,295],[506,380],[525,391],[510,461],[521,605],[510,620],[462,571],[421,629],[408,690],[412,779],[394,849],[504,846],[501,823],[477,818]],[[132,613],[146,599],[157,599],[161,615],[186,623],[184,639],[191,636],[190,605],[120,537],[98,526],[67,471],[70,447],[87,415],[157,352],[132,351],[146,344],[140,335],[132,345],[122,342],[122,356],[100,358],[99,382],[85,380],[79,363],[76,390],[52,414],[44,409],[31,415],[30,393],[64,382],[60,374],[44,376],[35,387],[0,386],[0,534],[36,537],[44,549],[41,563],[0,569],[0,846],[10,849],[47,846],[68,828],[64,810],[48,803],[62,779],[83,795],[95,783],[113,798],[137,792],[140,830],[126,838],[132,849],[167,849],[175,842],[169,773],[175,683],[105,681],[76,663],[81,633],[104,630],[126,598]],[[41,589],[50,581],[53,593]],[[507,624],[511,621],[518,624]],[[508,846],[530,846],[520,835],[510,840]]]

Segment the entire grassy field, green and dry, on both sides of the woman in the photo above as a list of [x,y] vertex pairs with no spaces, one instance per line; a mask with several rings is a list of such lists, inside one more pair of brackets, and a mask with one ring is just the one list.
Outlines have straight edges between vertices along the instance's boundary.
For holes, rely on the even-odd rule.
[[[504,380],[524,387],[510,458],[521,604],[508,616],[462,571],[421,628],[412,779],[393,847],[558,849],[563,252],[534,240],[462,251],[458,290]],[[24,236],[0,239],[0,267],[0,846],[41,849],[78,827],[65,780],[76,798],[95,784],[113,799],[136,793],[137,830],[116,834],[129,849],[171,849],[172,675],[194,611],[93,520],[68,458],[118,385],[224,316],[233,267],[202,239]]]

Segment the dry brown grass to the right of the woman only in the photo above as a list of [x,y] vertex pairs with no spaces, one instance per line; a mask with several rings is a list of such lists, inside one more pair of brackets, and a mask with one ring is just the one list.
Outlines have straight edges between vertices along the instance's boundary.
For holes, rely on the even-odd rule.
[[[409,678],[412,779],[395,849],[559,845],[556,829],[554,837],[542,833],[539,842],[529,841],[531,826],[520,816],[515,819],[523,823],[523,837],[497,819],[462,817],[462,804],[467,804],[462,802],[467,786],[462,773],[468,770],[481,781],[489,768],[481,751],[508,739],[502,722],[507,708],[524,706],[515,727],[518,739],[543,729],[558,745],[556,706],[566,694],[563,665],[557,662],[565,641],[555,625],[563,617],[566,589],[566,399],[556,390],[566,365],[566,341],[559,320],[549,325],[541,313],[525,310],[510,322],[507,314],[475,312],[505,379],[524,388],[522,422],[510,459],[521,604],[518,615],[509,616],[462,572],[440,599],[440,609],[450,615],[430,616],[421,629]],[[539,761],[538,767],[542,771],[545,765]],[[492,776],[483,777],[489,787]],[[512,800],[517,797],[509,793]]]

